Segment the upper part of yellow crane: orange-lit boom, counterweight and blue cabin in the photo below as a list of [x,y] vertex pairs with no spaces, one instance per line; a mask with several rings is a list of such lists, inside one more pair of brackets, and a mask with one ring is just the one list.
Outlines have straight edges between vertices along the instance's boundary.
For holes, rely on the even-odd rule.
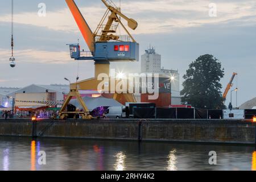
[[[86,44],[89,47],[90,52],[80,51],[79,44],[70,44],[70,53],[72,59],[75,60],[106,60],[106,61],[135,61],[139,60],[139,44],[136,43],[131,34],[127,31],[125,26],[123,26],[120,18],[127,21],[127,25],[135,30],[138,27],[138,23],[131,18],[127,18],[124,14],[121,13],[120,9],[113,7],[112,1],[102,2],[108,7],[108,11],[111,15],[108,16],[108,13],[105,13],[100,24],[96,28],[96,31],[93,33],[90,30],[89,25],[86,23],[84,16],[82,16],[79,8],[77,7],[74,0],[65,0],[71,13],[76,20],[77,26],[79,27],[82,36],[85,39]],[[113,5],[113,6],[110,6]],[[117,16],[118,15],[118,16]],[[106,24],[104,20],[108,18]],[[121,40],[120,36],[114,35],[115,30],[113,30],[114,23],[118,22],[117,26],[120,25],[127,33],[127,40]],[[99,32],[101,31],[101,32]],[[96,40],[96,37],[99,39]],[[129,42],[129,40],[132,42]],[[114,43],[110,40],[114,40]],[[118,50],[116,49],[118,47]],[[119,48],[120,47],[120,48]],[[126,50],[122,50],[122,47],[126,47]],[[129,48],[128,48],[129,47]],[[128,49],[127,49],[128,48]]]

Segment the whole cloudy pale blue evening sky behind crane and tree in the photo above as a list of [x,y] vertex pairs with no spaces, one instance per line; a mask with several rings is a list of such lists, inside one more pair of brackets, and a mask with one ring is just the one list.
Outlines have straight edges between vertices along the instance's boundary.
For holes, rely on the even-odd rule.
[[[100,0],[75,2],[94,31],[106,7]],[[119,0],[113,2],[119,6]],[[77,75],[80,80],[93,77],[93,61],[69,57],[68,43],[79,39],[81,47],[88,48],[64,0],[14,0],[16,67],[10,68],[11,1],[0,3],[0,86],[68,84],[64,77],[71,81]],[[39,3],[46,5],[46,16],[38,15]],[[216,16],[209,15],[212,5]],[[127,0],[121,1],[121,10],[138,22],[137,30],[129,31],[140,44],[140,53],[154,46],[162,55],[162,66],[179,71],[181,84],[189,63],[211,54],[225,69],[222,92],[237,72],[233,89],[239,89],[238,105],[256,97],[255,0]],[[112,63],[111,67],[140,71],[139,62]]]

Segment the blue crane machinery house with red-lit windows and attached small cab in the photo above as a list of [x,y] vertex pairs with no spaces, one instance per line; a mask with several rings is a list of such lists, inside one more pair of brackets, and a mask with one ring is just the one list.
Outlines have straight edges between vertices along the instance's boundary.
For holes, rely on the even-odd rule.
[[68,44],[72,59],[96,61],[139,61],[139,44],[136,42],[96,42],[95,51],[80,51],[79,44]]

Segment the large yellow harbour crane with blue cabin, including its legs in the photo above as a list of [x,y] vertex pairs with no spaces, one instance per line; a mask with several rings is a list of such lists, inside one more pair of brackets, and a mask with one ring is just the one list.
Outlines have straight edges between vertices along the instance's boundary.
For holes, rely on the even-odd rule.
[[[79,90],[98,90],[97,87],[102,80],[98,80],[100,74],[109,76],[109,65],[111,61],[138,61],[139,60],[139,44],[135,41],[133,36],[121,22],[121,18],[127,21],[127,25],[132,30],[135,30],[138,23],[126,15],[121,13],[121,9],[116,7],[112,1],[102,0],[107,10],[98,24],[96,30],[92,32],[88,23],[82,16],[79,8],[73,0],[65,0],[73,17],[76,20],[82,36],[88,45],[89,51],[80,50],[79,44],[68,44],[72,59],[75,60],[94,60],[94,77],[87,80],[82,80],[70,85],[70,92],[67,99],[64,101],[60,110],[60,117],[64,118],[67,114],[82,114],[82,118],[90,118],[89,110],[82,100]],[[106,24],[104,24],[106,23]],[[115,35],[118,26],[122,26],[127,36]],[[115,80],[116,84],[118,80]],[[113,82],[105,82],[104,87],[108,89],[109,93]],[[100,90],[98,90],[100,91]],[[72,97],[76,97],[82,106],[82,111],[65,111],[69,101]],[[125,102],[136,102],[133,94],[130,93],[116,93],[114,91],[113,99]]]

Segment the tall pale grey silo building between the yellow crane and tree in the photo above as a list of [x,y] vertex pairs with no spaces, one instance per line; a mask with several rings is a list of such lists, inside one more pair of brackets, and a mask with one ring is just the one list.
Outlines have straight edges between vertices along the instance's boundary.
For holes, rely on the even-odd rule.
[[[171,97],[169,105],[180,105],[181,96],[180,96],[180,75],[177,70],[173,69],[164,69],[161,63],[161,55],[156,53],[154,47],[148,48],[145,53],[141,56],[141,73],[159,73],[161,78],[169,78],[171,81]],[[159,100],[168,100],[168,94],[162,94],[162,97],[159,97]],[[143,98],[143,96],[141,97]],[[141,100],[144,101],[143,99]],[[166,105],[166,104],[165,104]]]

